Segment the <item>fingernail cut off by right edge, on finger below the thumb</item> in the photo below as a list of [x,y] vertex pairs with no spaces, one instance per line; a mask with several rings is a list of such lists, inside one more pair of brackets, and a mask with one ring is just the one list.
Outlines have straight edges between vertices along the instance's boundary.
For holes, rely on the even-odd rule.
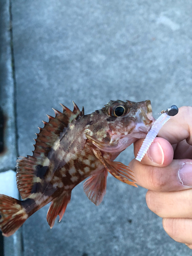
[[186,186],[192,186],[192,163],[183,163],[178,172],[179,181]]

